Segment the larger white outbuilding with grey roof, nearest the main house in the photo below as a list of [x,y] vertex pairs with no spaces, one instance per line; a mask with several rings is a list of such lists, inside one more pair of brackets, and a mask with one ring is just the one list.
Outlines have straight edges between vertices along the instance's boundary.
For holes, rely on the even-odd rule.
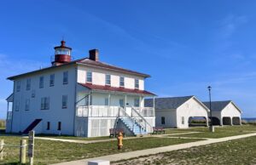
[[209,109],[195,96],[145,100],[145,106],[153,105],[156,127],[189,128],[193,118],[203,118],[208,125]]

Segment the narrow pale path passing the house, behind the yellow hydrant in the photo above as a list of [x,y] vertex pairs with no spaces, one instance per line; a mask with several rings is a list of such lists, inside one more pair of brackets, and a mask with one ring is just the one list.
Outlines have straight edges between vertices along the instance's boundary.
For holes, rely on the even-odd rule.
[[[199,132],[188,132],[188,133],[178,133],[178,134],[182,135],[182,134],[195,134],[195,133],[199,133]],[[125,137],[125,139],[138,139],[138,138],[148,138],[148,137],[169,138],[169,137],[167,137],[168,135],[178,135],[178,134],[156,134],[156,135],[144,136],[144,137]],[[117,140],[116,138],[83,140],[83,139],[61,139],[61,138],[49,138],[49,137],[37,137],[37,136],[35,137],[35,139],[47,139],[47,140],[53,140],[53,141],[62,141],[62,142],[80,143],[80,144],[90,144],[90,143],[98,143],[98,142],[106,142],[106,141]]]

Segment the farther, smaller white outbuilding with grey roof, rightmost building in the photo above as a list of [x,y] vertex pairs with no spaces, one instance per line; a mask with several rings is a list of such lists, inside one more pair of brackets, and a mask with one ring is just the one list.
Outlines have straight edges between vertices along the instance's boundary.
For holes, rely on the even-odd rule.
[[[210,109],[210,102],[203,104]],[[212,101],[211,109],[213,125],[241,125],[241,109],[233,101]]]

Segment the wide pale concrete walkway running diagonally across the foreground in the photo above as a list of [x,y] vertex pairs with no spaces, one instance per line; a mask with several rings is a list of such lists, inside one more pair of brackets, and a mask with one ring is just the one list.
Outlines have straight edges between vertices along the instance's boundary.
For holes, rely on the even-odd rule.
[[161,152],[177,151],[177,150],[187,149],[187,148],[194,147],[194,146],[210,145],[213,143],[229,141],[232,139],[242,139],[242,138],[247,138],[247,137],[251,137],[251,136],[256,136],[256,133],[242,134],[242,135],[230,136],[230,137],[219,138],[219,139],[207,139],[207,140],[203,140],[203,141],[196,141],[196,142],[185,143],[185,144],[180,144],[180,145],[169,145],[169,146],[163,146],[163,147],[152,148],[152,149],[141,150],[141,151],[124,152],[124,153],[108,155],[108,156],[99,156],[99,157],[94,157],[94,158],[84,159],[84,160],[79,160],[79,161],[62,162],[62,163],[57,163],[55,165],[84,165],[84,164],[87,164],[87,162],[89,162],[91,160],[108,160],[110,162],[116,162],[116,161],[120,161],[120,160],[124,160],[124,159],[135,158],[138,156],[148,156],[148,155],[152,155],[152,154],[158,154]]

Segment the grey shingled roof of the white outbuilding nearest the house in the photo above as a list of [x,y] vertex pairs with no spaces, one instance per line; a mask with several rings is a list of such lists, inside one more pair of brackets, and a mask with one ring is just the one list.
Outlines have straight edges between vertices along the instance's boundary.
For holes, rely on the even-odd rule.
[[172,97],[172,98],[156,98],[144,100],[144,105],[152,107],[154,101],[154,107],[156,110],[168,110],[177,109],[180,105],[183,105],[186,101],[190,100],[195,96],[183,96],[183,97]]

